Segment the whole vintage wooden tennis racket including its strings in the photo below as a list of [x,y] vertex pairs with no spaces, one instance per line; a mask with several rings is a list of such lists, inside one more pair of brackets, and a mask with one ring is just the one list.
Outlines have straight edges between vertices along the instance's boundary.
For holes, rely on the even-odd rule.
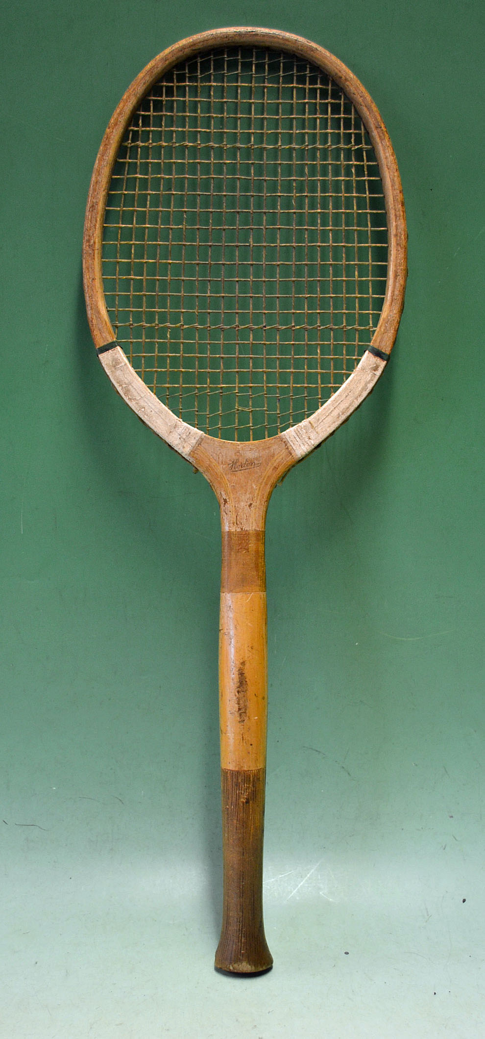
[[361,84],[269,29],[155,58],[103,138],[87,315],[113,385],[209,480],[222,526],[223,921],[215,965],[272,964],[263,926],[265,521],[284,474],[381,375],[403,308],[395,155]]

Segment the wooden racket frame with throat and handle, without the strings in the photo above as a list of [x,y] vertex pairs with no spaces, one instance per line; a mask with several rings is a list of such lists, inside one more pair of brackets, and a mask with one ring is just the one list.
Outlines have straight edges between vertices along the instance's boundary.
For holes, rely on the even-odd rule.
[[[387,282],[371,347],[318,411],[268,439],[217,439],[183,422],[160,401],[112,346],[114,331],[102,278],[103,221],[111,172],[129,122],[153,84],[178,62],[217,47],[289,52],[322,69],[345,91],[368,131],[382,181],[387,217]],[[350,417],[381,375],[404,303],[406,221],[396,157],[381,116],[356,77],[322,47],[274,29],[203,32],[169,47],[137,76],[117,106],[96,161],[83,240],[84,291],[99,358],[111,382],[155,433],[199,470],[220,506],[222,575],[219,707],[223,832],[223,920],[215,965],[257,974],[272,965],[263,926],[263,826],[266,774],[267,634],[265,524],[275,484]]]

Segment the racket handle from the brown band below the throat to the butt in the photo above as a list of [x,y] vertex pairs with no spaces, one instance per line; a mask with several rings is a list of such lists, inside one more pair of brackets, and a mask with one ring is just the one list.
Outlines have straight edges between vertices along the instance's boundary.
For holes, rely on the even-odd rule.
[[272,965],[263,925],[267,620],[263,531],[223,531],[219,632],[223,913],[215,966]]

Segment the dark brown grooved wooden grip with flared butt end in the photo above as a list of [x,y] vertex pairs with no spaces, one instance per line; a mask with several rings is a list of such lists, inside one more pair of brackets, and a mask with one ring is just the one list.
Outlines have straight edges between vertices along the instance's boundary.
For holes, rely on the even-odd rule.
[[221,770],[224,897],[217,970],[259,974],[273,958],[263,925],[266,769]]

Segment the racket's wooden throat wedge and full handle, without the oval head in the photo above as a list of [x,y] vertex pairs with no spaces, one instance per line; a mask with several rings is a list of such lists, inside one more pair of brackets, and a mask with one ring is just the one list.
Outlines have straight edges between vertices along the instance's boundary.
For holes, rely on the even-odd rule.
[[272,964],[263,925],[267,729],[265,526],[273,487],[295,463],[280,437],[233,444],[204,436],[191,460],[220,506],[219,718],[224,862],[215,965],[255,974]]

